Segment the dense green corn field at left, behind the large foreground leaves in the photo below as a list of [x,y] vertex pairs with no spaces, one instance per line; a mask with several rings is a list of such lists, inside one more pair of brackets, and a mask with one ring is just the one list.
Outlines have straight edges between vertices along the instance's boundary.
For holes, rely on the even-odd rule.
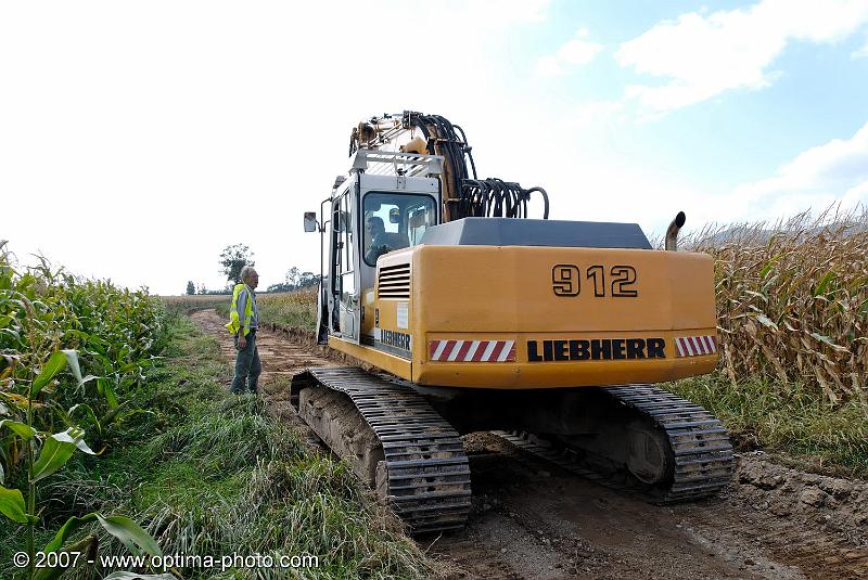
[[[0,248],[0,411],[21,408],[28,373],[41,369],[60,349],[77,353],[89,381],[66,388],[48,385],[54,402],[85,403],[93,411],[117,407],[150,366],[159,336],[162,309],[146,292],[122,289],[102,280],[82,280],[42,260],[20,268]],[[40,421],[50,410],[37,401]]]

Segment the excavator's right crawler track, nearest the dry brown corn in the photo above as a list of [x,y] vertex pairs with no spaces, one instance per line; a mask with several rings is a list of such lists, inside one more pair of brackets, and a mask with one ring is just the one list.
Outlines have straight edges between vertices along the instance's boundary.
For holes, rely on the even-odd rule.
[[582,450],[560,441],[518,431],[495,433],[569,472],[609,488],[640,493],[654,503],[705,498],[729,484],[733,472],[732,446],[726,428],[703,407],[652,385],[601,387],[600,390],[611,396],[616,404],[640,413],[665,434],[674,457],[667,484],[642,484],[626,469],[608,473],[589,461]]

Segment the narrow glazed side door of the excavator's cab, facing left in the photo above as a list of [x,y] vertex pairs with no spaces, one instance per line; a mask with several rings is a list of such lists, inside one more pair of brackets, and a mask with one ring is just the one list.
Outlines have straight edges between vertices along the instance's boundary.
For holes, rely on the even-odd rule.
[[333,202],[332,230],[332,265],[334,266],[332,304],[337,308],[337,312],[332,317],[333,326],[336,324],[334,334],[358,343],[361,307],[358,268],[358,193],[355,183]]

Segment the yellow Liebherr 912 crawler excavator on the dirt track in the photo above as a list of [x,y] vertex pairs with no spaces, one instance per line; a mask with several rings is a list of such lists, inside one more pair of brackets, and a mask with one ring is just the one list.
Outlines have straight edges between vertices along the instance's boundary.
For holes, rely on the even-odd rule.
[[298,373],[293,404],[413,532],[465,524],[471,431],[662,503],[731,477],[722,424],[653,386],[717,361],[712,258],[676,252],[684,214],[654,250],[635,223],[548,212],[540,188],[478,179],[460,127],[405,112],[353,129],[348,173],[305,215],[319,340],[368,370]]

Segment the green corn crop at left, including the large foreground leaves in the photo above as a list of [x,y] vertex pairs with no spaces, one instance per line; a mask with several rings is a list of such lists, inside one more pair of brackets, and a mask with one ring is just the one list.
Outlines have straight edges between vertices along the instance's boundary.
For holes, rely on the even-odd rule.
[[[141,307],[142,296],[131,297],[128,291],[107,283],[81,283],[62,271],[52,272],[46,260],[20,273],[4,245],[0,242],[0,513],[26,526],[28,576],[51,580],[64,571],[62,565],[34,567],[34,528],[40,520],[37,486],[63,468],[76,452],[98,454],[85,441],[86,430],[75,417],[84,415],[89,428],[98,431],[117,417],[117,387],[141,376],[157,320],[149,317],[149,308]],[[100,362],[92,366],[100,374],[82,376],[78,348],[64,346],[92,352]],[[67,370],[72,384],[62,381]],[[97,392],[88,392],[93,383]],[[64,403],[74,398],[80,401],[66,408]],[[102,421],[94,408],[107,411]],[[58,424],[65,428],[56,429]],[[16,471],[24,480],[26,498],[21,489],[5,487],[7,473]],[[67,519],[42,552],[94,549],[93,536],[67,545],[72,534],[90,523],[100,524],[137,555],[141,551],[161,554],[156,542],[136,523],[100,513]]]

